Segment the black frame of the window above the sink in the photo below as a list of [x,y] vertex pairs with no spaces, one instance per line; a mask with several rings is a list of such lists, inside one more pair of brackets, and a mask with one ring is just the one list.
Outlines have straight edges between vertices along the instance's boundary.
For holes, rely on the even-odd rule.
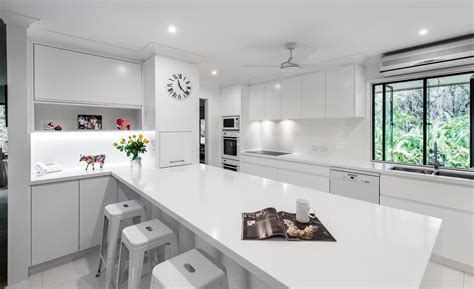
[[[370,84],[371,87],[371,138],[372,138],[372,152],[371,152],[371,160],[373,162],[379,162],[379,163],[389,163],[389,164],[400,164],[400,165],[410,165],[410,166],[431,166],[429,165],[429,159],[428,159],[428,148],[427,148],[427,141],[428,141],[428,126],[427,126],[427,110],[428,110],[428,79],[432,78],[440,78],[440,77],[448,77],[448,76],[455,76],[455,75],[462,75],[462,74],[471,74],[474,75],[474,69],[473,70],[466,70],[466,71],[460,71],[460,72],[454,72],[454,73],[445,73],[445,74],[433,74],[433,75],[426,75],[426,76],[420,76],[420,77],[414,77],[414,78],[403,78],[403,79],[394,79],[394,80],[389,80],[387,79],[386,81],[382,82],[372,82]],[[423,164],[407,164],[407,163],[397,163],[397,162],[391,162],[391,161],[386,161],[386,155],[385,155],[385,138],[386,138],[386,133],[385,133],[385,121],[386,121],[386,99],[385,99],[385,94],[386,94],[386,87],[387,84],[394,84],[394,83],[400,83],[400,82],[408,82],[408,81],[422,81],[423,82]],[[375,150],[375,88],[376,86],[382,86],[382,160],[377,160],[376,159],[376,150]],[[470,118],[470,127],[469,127],[469,149],[470,149],[470,155],[469,155],[469,162],[470,162],[470,168],[468,169],[463,169],[463,168],[443,168],[443,169],[452,169],[452,170],[469,170],[472,171],[474,170],[474,77],[470,78],[470,85],[469,85],[469,118]]]

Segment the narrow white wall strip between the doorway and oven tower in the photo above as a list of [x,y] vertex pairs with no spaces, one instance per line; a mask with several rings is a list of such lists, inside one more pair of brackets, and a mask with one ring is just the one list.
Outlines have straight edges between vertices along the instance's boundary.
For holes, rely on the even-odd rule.
[[207,99],[207,164],[219,167],[221,163],[221,97],[219,86],[213,83],[201,83],[199,98]]

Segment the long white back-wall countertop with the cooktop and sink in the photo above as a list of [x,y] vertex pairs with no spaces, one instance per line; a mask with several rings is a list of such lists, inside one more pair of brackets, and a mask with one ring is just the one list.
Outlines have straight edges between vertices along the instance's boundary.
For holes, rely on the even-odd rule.
[[455,185],[464,185],[464,186],[474,186],[474,180],[445,177],[445,176],[436,176],[436,175],[426,175],[421,173],[412,173],[412,172],[401,172],[393,171],[389,168],[394,166],[393,164],[388,163],[379,163],[372,161],[362,161],[362,160],[349,160],[349,159],[335,159],[335,158],[324,158],[316,157],[307,154],[298,154],[298,153],[289,153],[287,155],[281,156],[269,156],[263,154],[250,153],[248,151],[241,152],[242,156],[272,159],[279,161],[288,161],[295,163],[302,163],[308,165],[319,165],[326,166],[331,168],[340,168],[347,170],[356,170],[356,171],[365,171],[373,172],[377,174],[384,175],[393,175],[405,178],[415,178],[423,179],[432,182],[442,182],[442,183],[451,183]]

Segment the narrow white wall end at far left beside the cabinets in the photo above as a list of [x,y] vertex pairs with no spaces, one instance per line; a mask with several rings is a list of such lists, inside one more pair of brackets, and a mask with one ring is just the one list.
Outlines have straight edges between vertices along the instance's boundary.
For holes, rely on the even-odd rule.
[[8,168],[8,282],[26,279],[29,264],[29,183],[30,138],[28,119],[31,115],[28,83],[26,30],[32,23],[23,16],[2,13],[7,24],[7,74],[9,121]]

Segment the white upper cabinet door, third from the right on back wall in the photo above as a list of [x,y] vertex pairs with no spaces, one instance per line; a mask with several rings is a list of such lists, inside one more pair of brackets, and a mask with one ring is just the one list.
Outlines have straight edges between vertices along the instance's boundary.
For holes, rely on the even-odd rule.
[[281,116],[283,119],[301,118],[301,76],[281,81]]

